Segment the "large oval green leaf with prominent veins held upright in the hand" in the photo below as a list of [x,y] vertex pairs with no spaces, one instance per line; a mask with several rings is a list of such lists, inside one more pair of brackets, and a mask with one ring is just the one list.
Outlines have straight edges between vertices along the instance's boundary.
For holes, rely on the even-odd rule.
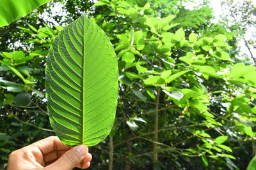
[[93,146],[115,120],[118,67],[108,36],[85,15],[54,39],[46,90],[52,128],[66,145]]

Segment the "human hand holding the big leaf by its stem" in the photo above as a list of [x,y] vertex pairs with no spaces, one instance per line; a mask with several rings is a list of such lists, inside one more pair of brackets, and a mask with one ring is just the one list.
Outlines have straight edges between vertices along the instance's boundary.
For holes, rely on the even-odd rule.
[[61,143],[57,136],[51,136],[10,154],[7,170],[70,170],[90,166],[92,155],[85,145],[75,147]]

